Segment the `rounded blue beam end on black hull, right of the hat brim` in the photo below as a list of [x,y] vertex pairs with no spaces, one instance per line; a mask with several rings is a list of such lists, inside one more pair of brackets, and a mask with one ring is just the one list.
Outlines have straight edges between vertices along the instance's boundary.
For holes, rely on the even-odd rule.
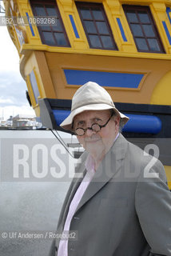
[[161,131],[161,119],[152,115],[126,114],[129,117],[123,131],[130,133],[158,134]]

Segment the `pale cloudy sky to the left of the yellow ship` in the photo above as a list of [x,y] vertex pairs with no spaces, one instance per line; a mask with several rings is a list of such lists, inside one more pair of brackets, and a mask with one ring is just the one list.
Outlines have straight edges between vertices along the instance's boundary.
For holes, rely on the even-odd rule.
[[26,82],[19,71],[19,57],[6,26],[0,26],[0,119],[30,114],[34,110],[26,99]]

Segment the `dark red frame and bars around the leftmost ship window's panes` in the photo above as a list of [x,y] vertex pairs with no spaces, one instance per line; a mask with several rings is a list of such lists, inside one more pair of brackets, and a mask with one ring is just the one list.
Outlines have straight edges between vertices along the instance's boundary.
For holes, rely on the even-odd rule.
[[[50,1],[48,1],[48,0],[46,0],[46,1],[43,1],[43,0],[30,0],[31,10],[32,10],[34,16],[39,16],[39,15],[37,15],[37,11],[35,10],[35,6],[34,6],[34,5],[37,5],[37,4],[38,5],[42,5],[43,9],[46,12],[46,16],[47,17],[49,15],[48,15],[47,10],[46,10],[46,5],[54,6],[54,9],[56,10],[56,12],[58,14],[58,20],[60,21],[61,26],[62,26],[62,32],[54,31],[53,30],[53,26],[51,26],[51,25],[47,26],[48,28],[50,28],[50,30],[42,30],[42,26],[37,26],[38,32],[40,34],[40,38],[41,38],[41,41],[42,41],[42,44],[45,44],[47,46],[54,46],[54,47],[56,47],[56,46],[58,46],[58,47],[70,47],[70,41],[69,41],[69,38],[68,38],[68,36],[66,34],[66,28],[65,28],[65,26],[63,24],[62,16],[61,16],[60,11],[58,9],[57,2],[55,0],[50,0]],[[54,38],[55,44],[51,44],[51,45],[47,44],[46,39],[45,39],[45,37],[43,35],[43,32],[50,32],[52,34],[53,38]],[[61,33],[61,34],[63,34],[65,39],[66,39],[66,44],[67,45],[65,45],[65,46],[64,45],[63,46],[59,45],[57,40],[56,40],[56,38],[55,38],[55,36],[54,36],[54,33]]]

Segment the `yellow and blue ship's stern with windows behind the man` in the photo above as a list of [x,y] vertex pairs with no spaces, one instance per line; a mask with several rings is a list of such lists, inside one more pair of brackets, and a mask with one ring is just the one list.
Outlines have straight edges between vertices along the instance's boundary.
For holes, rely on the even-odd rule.
[[129,115],[125,136],[140,146],[157,143],[171,187],[171,1],[4,4],[30,102],[43,125],[60,129],[78,86],[97,82]]

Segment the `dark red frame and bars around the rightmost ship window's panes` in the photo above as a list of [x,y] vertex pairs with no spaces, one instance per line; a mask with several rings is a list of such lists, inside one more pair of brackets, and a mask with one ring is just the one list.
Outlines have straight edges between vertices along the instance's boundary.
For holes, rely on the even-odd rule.
[[[141,36],[134,36],[133,35],[133,40],[134,40],[135,45],[137,47],[137,51],[138,52],[143,52],[143,53],[165,54],[165,48],[164,48],[163,43],[161,41],[161,36],[160,36],[160,34],[159,34],[158,30],[157,30],[157,25],[156,25],[156,22],[155,22],[155,20],[153,18],[153,15],[151,13],[151,10],[150,10],[149,6],[122,5],[122,8],[123,8],[123,10],[125,12],[125,17],[126,17],[126,20],[127,20],[128,24],[129,24],[129,29],[131,30],[132,35],[133,35],[133,29],[132,29],[132,27],[130,25],[131,24],[138,24],[138,25],[141,26],[141,31],[143,33],[143,37],[141,37]],[[149,23],[141,22],[141,20],[139,19],[138,15],[137,15],[138,23],[136,23],[136,22],[129,22],[129,18],[127,16],[127,11],[129,11],[129,10],[135,11],[136,15],[137,15],[138,11],[145,11],[146,14],[148,14],[150,25],[153,27],[153,32],[154,32],[155,37],[148,37],[148,36],[145,35],[145,30],[144,30],[142,25],[145,25],[145,24],[149,25]],[[146,42],[146,44],[147,44],[147,46],[149,48],[149,50],[139,50],[138,49],[139,47],[138,47],[137,42],[136,42],[136,38],[144,38],[145,42]],[[157,40],[158,46],[160,48],[160,51],[150,50],[150,46],[149,46],[149,42],[148,42],[149,38]]]

